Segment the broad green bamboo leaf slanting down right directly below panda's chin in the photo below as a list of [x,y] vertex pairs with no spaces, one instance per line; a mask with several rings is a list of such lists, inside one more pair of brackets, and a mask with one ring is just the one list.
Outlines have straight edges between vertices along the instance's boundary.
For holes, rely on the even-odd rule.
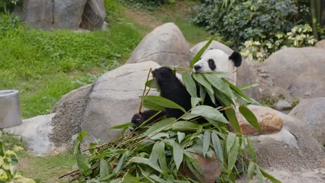
[[215,87],[219,92],[224,93],[229,98],[233,98],[233,91],[229,87],[228,83],[225,82],[222,78],[217,77],[214,74],[203,73],[203,76],[210,82],[213,87]]

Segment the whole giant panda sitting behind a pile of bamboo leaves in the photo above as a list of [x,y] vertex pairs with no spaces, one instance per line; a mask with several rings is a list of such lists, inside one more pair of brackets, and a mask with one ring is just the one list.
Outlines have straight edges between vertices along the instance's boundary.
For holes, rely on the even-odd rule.
[[[201,58],[197,63],[193,66],[194,73],[211,73],[215,71],[234,71],[235,67],[240,67],[242,63],[242,55],[237,51],[234,51],[230,56],[227,55],[224,51],[219,49],[210,49],[203,53]],[[178,80],[178,78],[174,75],[172,69],[169,67],[160,67],[152,71],[153,78],[156,81],[159,89],[160,96],[167,98],[178,105],[181,105],[186,111],[192,108],[191,105],[191,96],[188,93],[187,89],[183,85],[183,83]],[[233,74],[235,75],[235,74]],[[235,77],[231,76],[229,78],[231,82],[235,81]],[[198,91],[199,95],[199,91]],[[214,104],[211,101],[209,96],[206,96],[204,105],[209,105],[212,107],[221,106],[219,101],[216,101]],[[151,118],[153,114],[156,114],[157,111],[147,110],[141,112],[140,114],[135,114],[132,118],[132,123],[136,126],[142,124],[147,119]],[[166,108],[165,111],[160,112],[153,119],[149,121],[149,123],[153,123],[155,121],[159,121],[164,116],[167,118],[174,117],[178,119],[184,114],[181,110]],[[199,119],[198,123],[206,122],[204,119]]]

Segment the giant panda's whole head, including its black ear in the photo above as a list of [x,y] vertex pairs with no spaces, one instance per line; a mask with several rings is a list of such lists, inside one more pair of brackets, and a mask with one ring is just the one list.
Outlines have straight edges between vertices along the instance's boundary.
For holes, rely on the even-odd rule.
[[240,67],[242,55],[234,51],[230,56],[219,49],[210,49],[203,53],[193,66],[197,73],[210,73],[215,71],[233,71],[233,67]]

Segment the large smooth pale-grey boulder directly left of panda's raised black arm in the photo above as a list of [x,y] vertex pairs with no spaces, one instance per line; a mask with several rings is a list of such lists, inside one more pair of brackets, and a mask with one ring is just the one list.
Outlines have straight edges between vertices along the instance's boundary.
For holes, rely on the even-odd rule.
[[[120,130],[110,128],[131,121],[138,112],[138,96],[142,96],[149,69],[158,67],[156,62],[124,64],[94,82],[82,124],[82,129],[89,132],[86,142],[94,138],[110,141],[121,136]],[[157,92],[151,90],[149,94]]]

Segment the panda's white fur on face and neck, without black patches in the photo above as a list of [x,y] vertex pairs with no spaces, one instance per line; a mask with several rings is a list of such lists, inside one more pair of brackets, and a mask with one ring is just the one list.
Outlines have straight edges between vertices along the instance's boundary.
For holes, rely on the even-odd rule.
[[[216,68],[211,70],[208,64],[208,60],[213,59],[215,61]],[[193,72],[197,73],[211,73],[215,71],[224,71],[224,72],[233,72],[235,71],[235,66],[233,64],[233,60],[229,60],[229,55],[227,55],[224,51],[219,49],[211,49],[203,53],[201,59],[194,64],[194,66],[200,66],[201,69],[199,71]],[[232,73],[228,77],[229,82],[233,85],[236,84],[236,73]]]

